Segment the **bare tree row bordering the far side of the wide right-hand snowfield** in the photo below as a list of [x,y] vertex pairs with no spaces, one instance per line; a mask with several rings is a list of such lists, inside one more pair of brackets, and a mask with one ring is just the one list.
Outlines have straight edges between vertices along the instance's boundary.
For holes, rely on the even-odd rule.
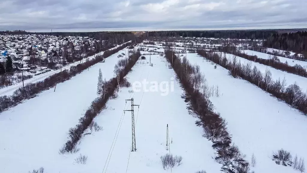
[[307,93],[304,93],[296,83],[286,86],[285,78],[274,81],[270,70],[267,69],[263,74],[251,63],[242,64],[235,55],[228,59],[226,54],[222,55],[221,53],[206,52],[205,50],[198,50],[197,53],[228,69],[233,77],[240,77],[255,84],[307,115]]

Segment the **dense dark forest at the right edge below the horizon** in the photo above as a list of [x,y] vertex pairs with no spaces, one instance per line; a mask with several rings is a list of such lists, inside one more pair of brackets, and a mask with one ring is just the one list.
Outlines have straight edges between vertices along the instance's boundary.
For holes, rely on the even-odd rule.
[[289,50],[307,55],[307,31],[273,34],[263,42],[264,47]]

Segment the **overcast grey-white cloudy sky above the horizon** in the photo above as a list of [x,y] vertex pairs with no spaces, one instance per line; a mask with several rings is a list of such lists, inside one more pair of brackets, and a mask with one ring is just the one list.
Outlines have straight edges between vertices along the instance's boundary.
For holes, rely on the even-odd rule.
[[0,0],[0,30],[307,28],[307,0]]

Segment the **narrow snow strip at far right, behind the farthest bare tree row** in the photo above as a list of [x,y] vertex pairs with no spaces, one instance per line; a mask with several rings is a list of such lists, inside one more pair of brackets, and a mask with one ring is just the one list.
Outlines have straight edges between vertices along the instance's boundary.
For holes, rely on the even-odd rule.
[[[265,54],[262,52],[257,52],[257,51],[253,51],[253,50],[241,50],[241,52],[245,52],[248,55],[256,55],[258,56],[258,58],[262,58],[262,59],[269,59],[270,54]],[[294,66],[295,64],[299,64],[304,68],[307,68],[307,62],[306,61],[300,61],[300,60],[296,60],[296,59],[291,59],[291,58],[285,58],[285,57],[281,57],[281,56],[277,56],[277,58],[280,60],[280,62],[288,62],[288,64],[290,66]]]

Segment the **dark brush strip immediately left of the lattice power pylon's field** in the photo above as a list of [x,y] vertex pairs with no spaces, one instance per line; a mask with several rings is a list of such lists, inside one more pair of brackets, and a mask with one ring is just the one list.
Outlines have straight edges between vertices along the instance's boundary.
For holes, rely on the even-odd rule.
[[129,73],[140,56],[141,54],[139,51],[133,50],[132,52],[129,52],[128,58],[119,60],[114,67],[116,76],[111,78],[109,81],[104,82],[103,93],[92,101],[91,106],[85,112],[84,117],[79,119],[79,123],[76,127],[69,129],[68,141],[60,149],[59,153],[75,153],[79,150],[76,145],[83,136],[84,131],[90,126],[93,119],[106,107],[107,101],[115,96],[119,85],[126,85],[125,76]]

